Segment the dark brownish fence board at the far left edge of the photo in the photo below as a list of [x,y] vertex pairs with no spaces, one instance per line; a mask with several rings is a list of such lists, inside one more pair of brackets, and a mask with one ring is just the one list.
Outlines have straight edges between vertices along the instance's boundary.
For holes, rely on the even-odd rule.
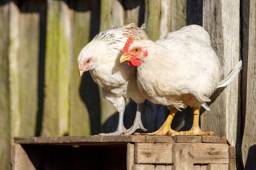
[[9,170],[10,91],[9,91],[9,3],[0,6],[0,169]]

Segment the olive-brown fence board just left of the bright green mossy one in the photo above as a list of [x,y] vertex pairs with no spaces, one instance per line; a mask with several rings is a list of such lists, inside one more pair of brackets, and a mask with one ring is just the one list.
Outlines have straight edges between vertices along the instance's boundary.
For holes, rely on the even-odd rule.
[[34,136],[36,129],[40,32],[39,2],[24,0],[20,6],[20,136]]

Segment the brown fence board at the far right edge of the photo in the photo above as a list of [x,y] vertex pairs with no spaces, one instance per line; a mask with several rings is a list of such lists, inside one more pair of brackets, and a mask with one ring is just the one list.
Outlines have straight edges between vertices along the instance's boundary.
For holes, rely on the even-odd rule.
[[[244,34],[243,40],[243,62],[245,64],[242,82],[243,95],[243,116],[244,116],[244,134],[242,139],[242,161],[243,165],[249,168],[252,165],[252,158],[248,156],[255,155],[256,144],[256,0],[244,1],[246,8],[244,12],[249,13],[248,19],[243,17],[246,25],[243,25],[242,30],[248,34]],[[243,37],[244,37],[243,36]],[[247,46],[247,47],[244,47]],[[255,158],[254,158],[255,159]],[[249,161],[250,160],[250,161]],[[255,163],[255,161],[253,161]],[[248,164],[248,165],[247,165]],[[249,166],[250,165],[250,166]],[[249,169],[248,169],[249,170]]]

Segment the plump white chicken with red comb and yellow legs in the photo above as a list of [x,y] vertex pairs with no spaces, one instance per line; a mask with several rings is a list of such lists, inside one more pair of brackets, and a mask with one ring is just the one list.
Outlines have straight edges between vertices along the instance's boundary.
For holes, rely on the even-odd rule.
[[[220,81],[220,64],[211,47],[209,34],[200,26],[190,25],[169,33],[156,42],[129,37],[120,62],[137,67],[137,84],[149,101],[167,105],[171,110],[158,131],[148,135],[212,135],[199,128],[199,110],[210,110],[206,102],[218,87],[228,85],[239,73],[240,61],[233,71]],[[194,109],[191,130],[176,132],[171,122],[177,110]]]

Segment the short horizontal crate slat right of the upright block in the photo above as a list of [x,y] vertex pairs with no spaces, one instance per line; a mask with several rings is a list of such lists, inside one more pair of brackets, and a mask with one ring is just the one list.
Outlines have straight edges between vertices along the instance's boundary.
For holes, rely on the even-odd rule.
[[227,144],[200,143],[193,144],[194,164],[228,164],[229,147]]

